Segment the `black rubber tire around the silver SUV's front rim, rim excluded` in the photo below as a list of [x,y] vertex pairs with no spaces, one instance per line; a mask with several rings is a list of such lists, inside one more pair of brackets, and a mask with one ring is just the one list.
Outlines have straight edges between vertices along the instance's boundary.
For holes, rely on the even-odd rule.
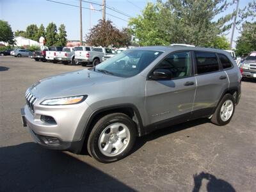
[[[108,157],[102,154],[102,152],[100,152],[99,137],[102,131],[104,131],[104,129],[108,127],[108,125],[111,125],[117,122],[125,124],[128,127],[130,131],[130,140],[127,147],[121,154],[118,154],[117,156],[113,156],[113,157]],[[132,122],[132,120],[127,119],[127,117],[125,116],[118,115],[114,118],[109,117],[108,119],[104,120],[104,122],[99,126],[93,127],[93,129],[95,130],[93,130],[92,134],[90,134],[90,137],[89,137],[89,143],[88,143],[89,151],[92,152],[91,155],[93,157],[95,157],[98,161],[102,163],[111,163],[113,161],[117,161],[119,159],[124,158],[125,156],[127,156],[127,154],[129,154],[132,146],[134,145],[134,141],[136,138],[134,122]]]

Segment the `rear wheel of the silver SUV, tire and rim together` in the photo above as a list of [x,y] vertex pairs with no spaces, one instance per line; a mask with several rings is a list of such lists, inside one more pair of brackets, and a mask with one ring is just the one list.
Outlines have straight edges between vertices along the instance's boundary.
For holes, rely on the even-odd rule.
[[[234,115],[236,102],[234,97],[227,93],[222,97],[218,107],[212,115],[211,122],[216,125],[227,125]],[[227,113],[225,112],[227,111]],[[229,111],[229,112],[228,112]]]

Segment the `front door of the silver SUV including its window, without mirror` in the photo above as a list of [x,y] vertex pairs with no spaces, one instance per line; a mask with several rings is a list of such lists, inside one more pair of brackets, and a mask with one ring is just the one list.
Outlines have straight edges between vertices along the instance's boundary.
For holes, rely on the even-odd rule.
[[172,79],[147,80],[145,108],[148,123],[157,124],[166,120],[185,122],[191,116],[196,90],[196,79],[191,76],[191,52],[172,53],[156,68],[170,70]]

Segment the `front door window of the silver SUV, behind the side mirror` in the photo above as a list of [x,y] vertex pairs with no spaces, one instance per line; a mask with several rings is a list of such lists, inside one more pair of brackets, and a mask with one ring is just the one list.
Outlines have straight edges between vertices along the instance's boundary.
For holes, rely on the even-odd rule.
[[173,78],[188,77],[190,74],[189,51],[175,52],[165,58],[157,68],[165,68],[172,72]]

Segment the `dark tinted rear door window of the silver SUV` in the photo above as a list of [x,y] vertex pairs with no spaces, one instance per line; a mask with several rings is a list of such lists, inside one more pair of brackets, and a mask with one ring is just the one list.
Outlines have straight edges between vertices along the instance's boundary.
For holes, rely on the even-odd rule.
[[219,70],[218,59],[212,52],[195,52],[197,74],[205,74]]

